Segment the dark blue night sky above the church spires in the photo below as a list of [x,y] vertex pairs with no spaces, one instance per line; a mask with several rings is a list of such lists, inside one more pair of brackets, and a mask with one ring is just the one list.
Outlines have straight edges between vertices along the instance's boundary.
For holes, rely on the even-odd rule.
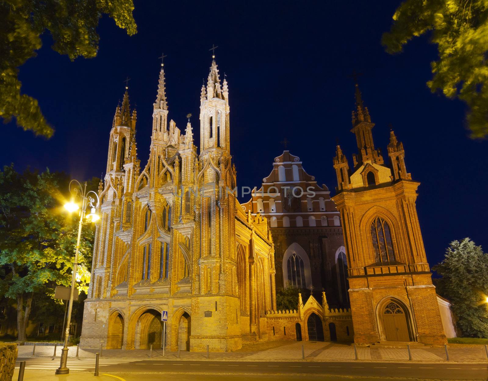
[[[349,163],[356,152],[351,129],[354,84],[369,108],[375,145],[384,156],[391,123],[406,150],[407,171],[421,182],[417,202],[427,257],[438,262],[448,243],[469,236],[488,249],[487,141],[468,137],[464,105],[431,94],[430,61],[436,47],[427,38],[410,42],[401,55],[381,46],[400,1],[135,1],[139,32],[128,37],[113,20],[99,27],[94,59],[70,62],[50,49],[20,68],[22,91],[39,99],[55,127],[49,139],[8,124],[0,164],[66,171],[86,179],[105,170],[113,115],[126,76],[137,105],[137,140],[147,161],[161,52],[165,58],[169,118],[184,130],[192,113],[199,143],[202,78],[208,75],[213,43],[221,78],[229,82],[231,153],[239,186],[260,186],[280,155],[289,150],[305,170],[334,193],[332,168],[339,139]],[[247,201],[247,200],[242,200]]]

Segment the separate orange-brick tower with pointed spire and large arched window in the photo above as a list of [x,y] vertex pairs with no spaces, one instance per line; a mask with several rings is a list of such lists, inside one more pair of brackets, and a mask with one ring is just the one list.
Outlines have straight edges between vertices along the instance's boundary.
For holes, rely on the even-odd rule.
[[420,183],[407,173],[403,144],[393,131],[386,166],[374,146],[373,127],[356,84],[351,132],[358,153],[349,170],[337,146],[338,186],[332,198],[344,226],[354,341],[444,344],[415,205]]

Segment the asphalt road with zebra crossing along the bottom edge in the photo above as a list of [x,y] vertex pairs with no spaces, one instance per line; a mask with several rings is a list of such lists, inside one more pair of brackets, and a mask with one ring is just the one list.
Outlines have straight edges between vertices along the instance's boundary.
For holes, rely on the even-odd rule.
[[[19,358],[25,360],[26,374],[35,370],[53,370],[59,359]],[[18,366],[18,364],[17,364]],[[93,359],[70,359],[72,371],[94,371]],[[100,374],[116,374],[126,381],[154,380],[157,374],[179,375],[178,380],[251,380],[259,376],[266,379],[303,380],[325,376],[328,380],[347,377],[425,379],[425,380],[488,380],[488,366],[483,364],[456,363],[405,363],[405,362],[213,362],[213,361],[168,361],[126,360],[102,358]],[[44,373],[44,372],[42,372]],[[198,376],[198,377],[197,377]]]

